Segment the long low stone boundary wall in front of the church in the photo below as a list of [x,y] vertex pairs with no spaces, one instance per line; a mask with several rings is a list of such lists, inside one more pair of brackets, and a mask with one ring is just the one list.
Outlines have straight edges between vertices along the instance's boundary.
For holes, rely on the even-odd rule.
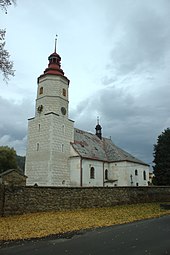
[[60,188],[0,185],[0,216],[149,202],[170,202],[170,187]]

